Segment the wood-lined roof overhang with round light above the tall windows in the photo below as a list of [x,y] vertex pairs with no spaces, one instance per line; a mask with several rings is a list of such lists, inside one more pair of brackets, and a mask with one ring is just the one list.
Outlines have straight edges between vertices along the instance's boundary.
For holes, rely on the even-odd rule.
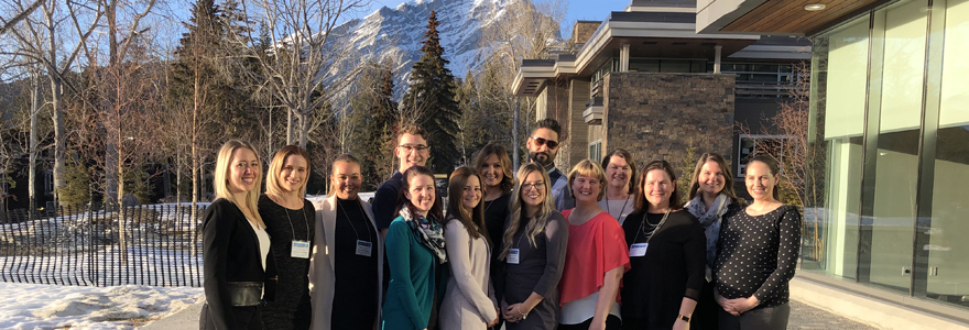
[[[892,0],[698,0],[697,33],[814,35]],[[808,4],[825,4],[809,11]]]

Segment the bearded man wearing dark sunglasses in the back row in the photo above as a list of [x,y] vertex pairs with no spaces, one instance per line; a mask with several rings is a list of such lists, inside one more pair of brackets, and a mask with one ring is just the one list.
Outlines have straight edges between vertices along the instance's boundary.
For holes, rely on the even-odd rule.
[[551,118],[538,121],[538,127],[529,136],[525,147],[529,148],[529,158],[545,167],[548,178],[552,179],[552,198],[558,211],[575,208],[575,198],[568,193],[568,177],[555,167],[555,155],[558,154],[558,136],[562,135],[562,125]]

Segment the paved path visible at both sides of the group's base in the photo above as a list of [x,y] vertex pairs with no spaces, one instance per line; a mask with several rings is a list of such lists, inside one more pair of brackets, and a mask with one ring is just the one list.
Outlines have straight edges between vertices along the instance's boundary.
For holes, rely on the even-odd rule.
[[[179,330],[198,329],[198,311],[202,304],[192,305],[164,319],[142,327],[144,330]],[[859,323],[841,316],[814,308],[812,306],[791,301],[791,321],[788,330],[878,330],[879,328]]]

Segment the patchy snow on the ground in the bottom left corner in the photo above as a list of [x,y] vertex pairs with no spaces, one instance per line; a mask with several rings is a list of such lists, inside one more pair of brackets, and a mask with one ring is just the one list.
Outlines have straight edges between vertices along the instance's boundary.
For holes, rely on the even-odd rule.
[[0,283],[0,329],[133,329],[204,299],[197,287]]

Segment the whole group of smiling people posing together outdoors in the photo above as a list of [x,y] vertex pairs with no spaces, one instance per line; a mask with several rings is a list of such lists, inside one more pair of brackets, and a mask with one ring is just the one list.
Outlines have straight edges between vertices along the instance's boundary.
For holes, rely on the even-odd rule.
[[775,160],[748,164],[748,205],[712,153],[689,191],[665,161],[638,175],[621,148],[565,175],[560,130],[540,121],[514,174],[505,150],[487,145],[450,174],[446,205],[417,127],[399,132],[399,170],[372,205],[353,156],[336,158],[328,197],[313,204],[304,150],[275,154],[260,195],[253,148],[226,143],[203,222],[199,327],[786,328],[801,216],[779,201]]

